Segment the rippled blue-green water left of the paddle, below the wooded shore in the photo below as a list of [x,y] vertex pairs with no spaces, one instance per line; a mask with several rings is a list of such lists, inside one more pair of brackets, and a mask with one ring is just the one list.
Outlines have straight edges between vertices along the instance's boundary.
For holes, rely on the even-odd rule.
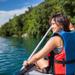
[[0,75],[15,75],[40,39],[0,37]]

